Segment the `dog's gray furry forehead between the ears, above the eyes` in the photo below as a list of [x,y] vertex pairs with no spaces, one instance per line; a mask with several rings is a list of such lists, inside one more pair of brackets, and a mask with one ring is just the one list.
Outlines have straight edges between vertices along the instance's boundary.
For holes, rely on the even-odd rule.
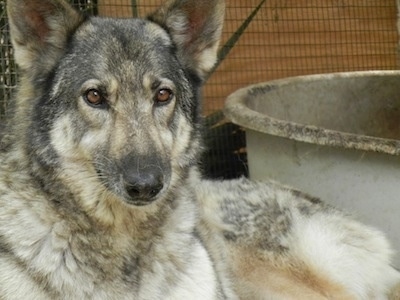
[[[179,69],[174,44],[168,32],[145,19],[91,18],[72,37],[64,59],[76,81],[114,76],[120,82],[141,82],[151,71],[165,77]],[[72,67],[74,66],[74,70]],[[65,71],[63,71],[65,72]],[[139,80],[139,81],[138,81]]]

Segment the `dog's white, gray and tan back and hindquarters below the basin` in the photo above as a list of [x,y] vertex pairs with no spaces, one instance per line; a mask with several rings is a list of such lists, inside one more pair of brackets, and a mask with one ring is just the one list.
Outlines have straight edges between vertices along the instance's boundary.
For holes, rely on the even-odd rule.
[[273,181],[202,180],[195,190],[200,232],[240,299],[400,299],[378,230]]

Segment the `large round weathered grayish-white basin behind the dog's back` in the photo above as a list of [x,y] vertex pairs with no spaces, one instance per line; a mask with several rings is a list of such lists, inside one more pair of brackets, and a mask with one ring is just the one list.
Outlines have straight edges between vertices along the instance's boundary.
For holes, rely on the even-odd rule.
[[260,83],[230,95],[224,112],[246,128],[250,178],[350,211],[400,252],[400,71]]

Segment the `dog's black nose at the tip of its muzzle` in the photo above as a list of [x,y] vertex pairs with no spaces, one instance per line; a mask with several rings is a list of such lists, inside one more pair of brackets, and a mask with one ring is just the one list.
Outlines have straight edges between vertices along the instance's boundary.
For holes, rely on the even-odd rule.
[[164,187],[159,168],[144,167],[125,173],[126,192],[132,201],[151,202]]

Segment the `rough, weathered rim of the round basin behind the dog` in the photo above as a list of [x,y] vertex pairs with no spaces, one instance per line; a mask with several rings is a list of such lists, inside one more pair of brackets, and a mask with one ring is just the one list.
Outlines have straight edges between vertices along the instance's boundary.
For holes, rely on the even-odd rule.
[[384,77],[388,75],[399,76],[400,80],[400,70],[373,70],[302,75],[264,81],[245,86],[230,94],[225,101],[223,112],[230,121],[237,125],[274,136],[317,145],[400,155],[400,140],[360,135],[351,132],[327,129],[311,124],[302,124],[277,119],[268,114],[254,111],[247,105],[251,92],[253,91],[254,93],[256,89],[264,89],[268,91],[299,82],[346,77]]

